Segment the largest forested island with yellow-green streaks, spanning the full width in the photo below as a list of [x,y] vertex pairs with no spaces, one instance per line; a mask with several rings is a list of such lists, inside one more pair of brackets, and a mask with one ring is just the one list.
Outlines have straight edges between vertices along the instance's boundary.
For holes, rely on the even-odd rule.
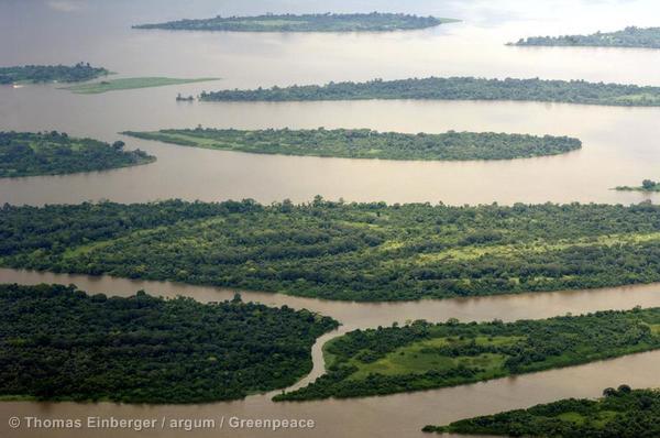
[[6,205],[0,265],[346,300],[593,288],[660,281],[660,206]]

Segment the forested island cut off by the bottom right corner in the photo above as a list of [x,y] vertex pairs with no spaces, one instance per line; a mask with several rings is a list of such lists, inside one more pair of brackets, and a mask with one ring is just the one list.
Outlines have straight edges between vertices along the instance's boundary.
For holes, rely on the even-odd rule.
[[657,438],[660,437],[660,391],[606,388],[597,401],[568,398],[463,419],[449,426],[426,426],[428,432],[509,437]]

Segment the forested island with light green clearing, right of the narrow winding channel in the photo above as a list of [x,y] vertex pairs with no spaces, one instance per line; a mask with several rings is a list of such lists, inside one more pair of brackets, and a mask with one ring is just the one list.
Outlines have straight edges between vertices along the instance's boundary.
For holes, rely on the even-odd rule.
[[275,401],[454,386],[660,348],[660,308],[504,324],[415,321],[355,330],[324,346],[327,373]]

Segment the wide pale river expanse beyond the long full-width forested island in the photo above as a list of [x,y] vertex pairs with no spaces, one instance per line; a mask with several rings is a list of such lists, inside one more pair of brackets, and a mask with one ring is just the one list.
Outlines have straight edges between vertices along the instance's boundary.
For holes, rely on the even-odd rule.
[[[583,150],[508,162],[396,162],[268,156],[208,151],[123,139],[158,161],[148,166],[67,176],[0,180],[0,202],[43,205],[111,199],[122,202],[179,197],[221,200],[289,198],[446,204],[638,202],[653,196],[612,190],[657,176],[660,108],[608,108],[534,102],[353,101],[228,103],[175,102],[202,89],[475,75],[656,84],[660,51],[529,48],[504,43],[522,35],[591,32],[620,26],[620,15],[652,24],[652,1],[569,2],[562,10],[524,1],[419,1],[410,12],[464,22],[391,34],[251,34],[131,30],[130,24],[223,12],[256,13],[277,2],[35,0],[0,2],[0,63],[102,65],[119,76],[221,77],[215,83],[74,95],[57,86],[0,87],[0,129],[59,130],[107,141],[125,130],[194,128],[371,128],[578,136]],[[136,3],[136,4],[135,4]],[[213,7],[212,4],[220,4]],[[254,3],[254,4],[252,4]],[[314,2],[312,2],[314,3]],[[397,9],[363,1],[360,10]],[[41,4],[41,7],[40,7]],[[346,10],[353,2],[282,2],[282,11]],[[70,10],[64,11],[68,8]],[[54,9],[53,9],[54,8]],[[278,10],[279,10],[278,9]],[[211,12],[213,11],[213,12]],[[587,14],[591,11],[591,14]],[[28,20],[30,17],[30,20]],[[591,17],[591,21],[590,21]],[[657,17],[657,15],[656,15]],[[57,47],[56,51],[51,47]]]

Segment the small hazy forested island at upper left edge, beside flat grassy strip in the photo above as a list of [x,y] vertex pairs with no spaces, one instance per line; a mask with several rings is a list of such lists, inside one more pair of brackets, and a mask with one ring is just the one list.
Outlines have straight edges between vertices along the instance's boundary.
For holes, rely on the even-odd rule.
[[109,74],[106,68],[92,67],[89,63],[0,67],[0,84],[79,83]]

